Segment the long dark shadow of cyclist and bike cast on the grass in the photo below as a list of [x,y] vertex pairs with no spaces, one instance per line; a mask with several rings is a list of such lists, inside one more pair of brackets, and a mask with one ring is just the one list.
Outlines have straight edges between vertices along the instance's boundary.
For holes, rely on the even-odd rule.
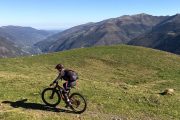
[[14,108],[25,108],[25,109],[33,109],[33,110],[44,110],[44,111],[51,111],[51,112],[65,112],[65,113],[74,113],[70,110],[64,110],[55,107],[49,107],[47,105],[39,104],[39,103],[28,103],[27,99],[19,100],[16,102],[13,101],[3,101],[4,104],[10,104],[10,106]]

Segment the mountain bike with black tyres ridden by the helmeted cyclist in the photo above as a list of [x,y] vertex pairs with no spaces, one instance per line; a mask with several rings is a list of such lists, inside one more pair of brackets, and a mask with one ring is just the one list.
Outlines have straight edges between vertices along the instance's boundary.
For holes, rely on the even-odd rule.
[[[56,107],[60,102],[61,99],[65,101],[65,97],[63,95],[63,88],[59,86],[58,81],[55,83],[53,87],[46,88],[42,92],[42,100],[43,102],[50,106],[50,107]],[[68,91],[68,97],[71,101],[71,106],[69,106],[75,113],[83,113],[86,110],[87,102],[83,95],[80,93],[70,93],[70,90]]]

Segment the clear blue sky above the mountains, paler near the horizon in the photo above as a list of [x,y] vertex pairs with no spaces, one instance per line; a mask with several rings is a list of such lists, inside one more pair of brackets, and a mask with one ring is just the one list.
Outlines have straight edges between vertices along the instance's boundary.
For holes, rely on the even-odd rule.
[[0,26],[65,29],[122,15],[180,13],[180,0],[1,0]]

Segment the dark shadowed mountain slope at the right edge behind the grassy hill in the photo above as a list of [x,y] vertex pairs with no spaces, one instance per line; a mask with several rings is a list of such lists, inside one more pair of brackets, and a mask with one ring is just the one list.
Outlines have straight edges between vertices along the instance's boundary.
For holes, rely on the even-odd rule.
[[128,44],[180,54],[180,14],[168,17]]

